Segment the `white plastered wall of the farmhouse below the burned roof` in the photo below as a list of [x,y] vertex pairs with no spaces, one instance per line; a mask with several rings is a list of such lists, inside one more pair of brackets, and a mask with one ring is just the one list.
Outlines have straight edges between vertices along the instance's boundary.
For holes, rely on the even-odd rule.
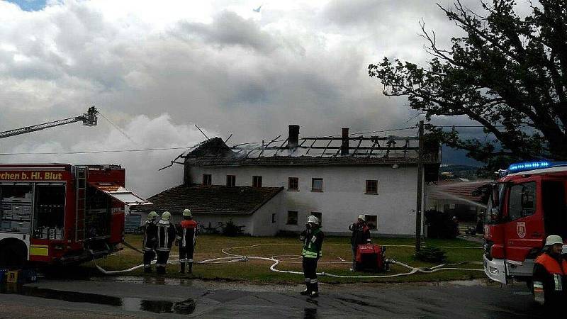
[[[262,186],[283,186],[281,207],[274,208],[279,230],[302,230],[316,211],[329,233],[348,233],[347,225],[366,214],[378,216],[373,233],[415,235],[417,167],[191,167],[191,182],[201,184],[203,174],[211,174],[215,185],[224,185],[226,175],[236,175],[237,186],[252,186],[252,176],[259,175]],[[299,178],[299,191],[288,191],[288,177]],[[323,179],[322,192],[311,191],[312,178]],[[366,179],[378,180],[378,195],[364,194]],[[287,211],[298,211],[298,225],[286,225]]]

